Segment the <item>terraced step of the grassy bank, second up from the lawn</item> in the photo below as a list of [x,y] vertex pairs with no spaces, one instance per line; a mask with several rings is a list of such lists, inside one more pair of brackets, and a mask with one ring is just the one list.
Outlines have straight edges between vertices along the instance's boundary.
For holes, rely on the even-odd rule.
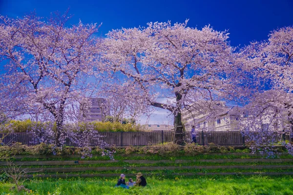
[[[183,170],[183,169],[292,169],[293,165],[230,165],[230,166],[155,166],[155,167],[48,167],[48,168],[22,168],[27,172],[83,172],[83,171],[113,171],[113,170],[135,170],[135,171],[155,171],[155,170]],[[4,172],[4,168],[0,172]]]

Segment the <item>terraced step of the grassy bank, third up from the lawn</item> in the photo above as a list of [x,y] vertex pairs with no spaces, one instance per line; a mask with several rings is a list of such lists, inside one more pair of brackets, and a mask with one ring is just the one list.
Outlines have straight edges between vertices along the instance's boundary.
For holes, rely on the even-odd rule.
[[[225,162],[292,162],[293,159],[262,159],[262,158],[241,158],[241,159],[200,159],[200,160],[63,160],[63,161],[15,161],[16,165],[21,166],[35,166],[35,165],[77,165],[77,164],[102,164],[102,163],[116,163],[116,162],[127,162],[133,164],[155,164],[155,163],[192,163],[192,162],[214,162],[214,163],[225,163]],[[0,166],[6,166],[6,162],[0,162]]]

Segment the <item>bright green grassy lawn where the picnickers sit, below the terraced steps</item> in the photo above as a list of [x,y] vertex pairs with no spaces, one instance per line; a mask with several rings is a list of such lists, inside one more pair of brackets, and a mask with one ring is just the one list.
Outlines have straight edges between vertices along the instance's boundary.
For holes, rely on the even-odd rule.
[[[34,195],[293,195],[292,176],[147,177],[145,188],[115,188],[118,178],[34,178],[24,183]],[[25,195],[0,183],[0,195]]]

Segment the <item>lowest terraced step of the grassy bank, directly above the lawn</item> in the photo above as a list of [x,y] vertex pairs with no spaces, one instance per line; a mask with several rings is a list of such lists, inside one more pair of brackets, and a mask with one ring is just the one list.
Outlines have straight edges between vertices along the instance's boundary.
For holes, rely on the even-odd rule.
[[[127,176],[135,176],[136,174],[127,174]],[[148,174],[144,174],[148,175]],[[159,174],[158,174],[159,175]],[[281,176],[281,175],[293,175],[293,172],[251,172],[251,173],[173,173],[173,176],[206,176],[206,175],[261,175],[261,176]],[[42,177],[42,178],[67,178],[67,177],[119,177],[120,174],[68,174],[68,175],[57,175],[57,174],[45,174],[45,175],[25,175],[28,178]]]

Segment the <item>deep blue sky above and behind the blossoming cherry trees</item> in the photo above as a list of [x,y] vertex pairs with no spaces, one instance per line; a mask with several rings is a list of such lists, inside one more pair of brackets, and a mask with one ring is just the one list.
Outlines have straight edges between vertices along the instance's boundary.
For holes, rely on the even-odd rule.
[[[267,39],[273,29],[293,25],[293,0],[0,0],[0,15],[13,18],[34,10],[46,18],[67,8],[73,15],[70,23],[103,22],[101,36],[111,29],[146,26],[149,21],[189,19],[189,27],[210,24],[216,30],[229,30],[232,46]],[[149,123],[160,124],[166,116],[158,109]]]

